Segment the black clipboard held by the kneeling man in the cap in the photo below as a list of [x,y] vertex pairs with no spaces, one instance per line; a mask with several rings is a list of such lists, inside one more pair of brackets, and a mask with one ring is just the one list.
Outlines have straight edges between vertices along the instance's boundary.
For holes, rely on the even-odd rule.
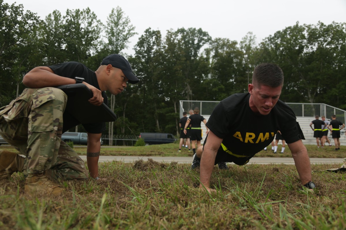
[[102,103],[100,106],[91,104],[92,91],[85,84],[67,84],[57,86],[67,95],[65,112],[70,113],[81,124],[115,121],[117,115]]

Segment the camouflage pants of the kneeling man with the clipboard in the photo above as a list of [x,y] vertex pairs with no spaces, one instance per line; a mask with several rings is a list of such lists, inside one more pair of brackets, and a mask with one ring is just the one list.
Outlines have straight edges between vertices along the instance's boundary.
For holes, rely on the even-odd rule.
[[60,89],[25,89],[0,108],[0,134],[26,156],[25,176],[45,172],[53,179],[88,179],[84,161],[61,141],[66,101]]

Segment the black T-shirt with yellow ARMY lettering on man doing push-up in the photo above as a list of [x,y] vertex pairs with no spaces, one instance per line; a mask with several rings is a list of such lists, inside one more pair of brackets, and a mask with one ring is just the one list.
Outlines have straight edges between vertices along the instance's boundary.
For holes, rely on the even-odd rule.
[[268,146],[277,130],[287,143],[304,139],[292,109],[277,101],[268,115],[254,113],[249,106],[249,93],[237,93],[222,100],[213,110],[206,126],[229,151],[253,156]]

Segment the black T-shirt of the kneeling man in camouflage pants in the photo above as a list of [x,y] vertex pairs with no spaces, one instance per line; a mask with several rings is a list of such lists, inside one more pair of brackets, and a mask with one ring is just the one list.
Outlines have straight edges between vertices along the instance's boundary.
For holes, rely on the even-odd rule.
[[[97,89],[100,89],[99,83],[97,82],[96,74],[94,71],[83,65],[82,63],[70,61],[60,64],[55,64],[53,66],[48,66],[53,70],[53,72],[59,76],[67,78],[82,77],[86,83],[91,84]],[[106,92],[102,92],[103,102],[108,105]],[[80,124],[71,114],[64,112],[63,115],[63,132],[75,127]],[[87,132],[90,133],[101,133],[106,130],[106,123],[92,123],[92,124],[82,124]]]

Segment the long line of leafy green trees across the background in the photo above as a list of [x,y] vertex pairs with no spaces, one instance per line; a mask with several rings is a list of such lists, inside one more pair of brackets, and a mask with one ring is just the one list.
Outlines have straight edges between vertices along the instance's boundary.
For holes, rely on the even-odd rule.
[[[79,61],[96,70],[112,53],[124,54],[135,26],[120,7],[103,24],[89,8],[54,10],[44,20],[22,4],[0,0],[0,106],[25,88],[36,66]],[[254,67],[278,64],[285,76],[284,102],[326,103],[346,110],[346,23],[295,23],[259,44],[247,33],[238,42],[212,38],[201,28],[147,28],[126,56],[138,84],[109,97],[118,115],[107,134],[179,131],[179,100],[220,101],[247,92]],[[124,54],[125,55],[125,54]],[[109,128],[112,127],[112,128]],[[82,127],[80,127],[83,129]],[[105,133],[106,134],[106,133]]]

